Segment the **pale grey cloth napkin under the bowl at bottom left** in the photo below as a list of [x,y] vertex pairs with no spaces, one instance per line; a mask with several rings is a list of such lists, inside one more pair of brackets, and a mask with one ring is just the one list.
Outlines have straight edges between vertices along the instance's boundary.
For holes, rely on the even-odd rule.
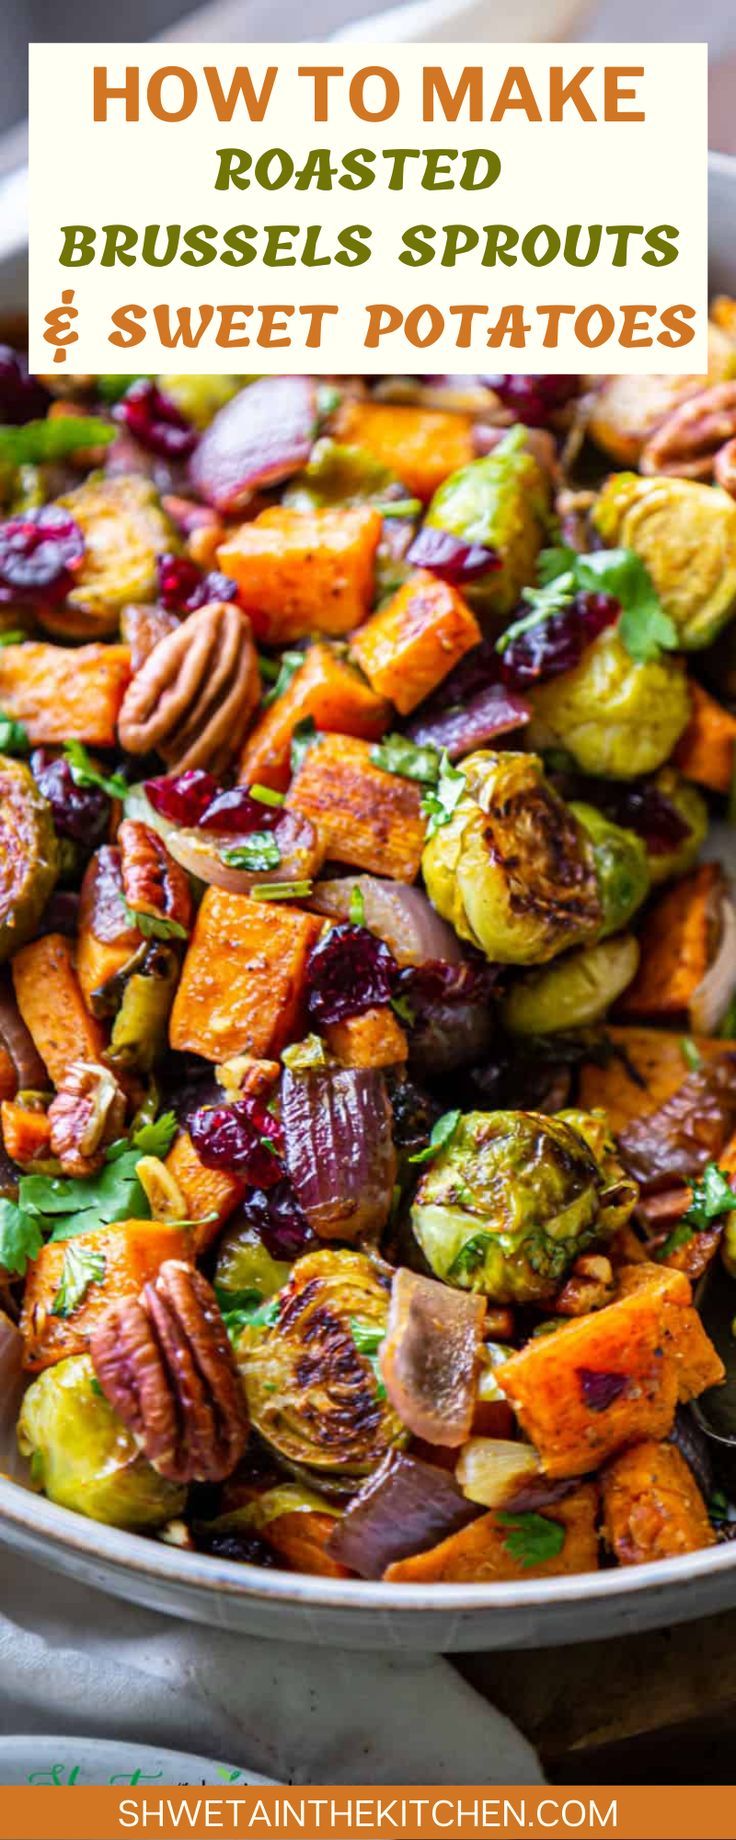
[[193,1750],[293,1783],[541,1783],[449,1662],[263,1641],[0,1549],[0,1730]]

